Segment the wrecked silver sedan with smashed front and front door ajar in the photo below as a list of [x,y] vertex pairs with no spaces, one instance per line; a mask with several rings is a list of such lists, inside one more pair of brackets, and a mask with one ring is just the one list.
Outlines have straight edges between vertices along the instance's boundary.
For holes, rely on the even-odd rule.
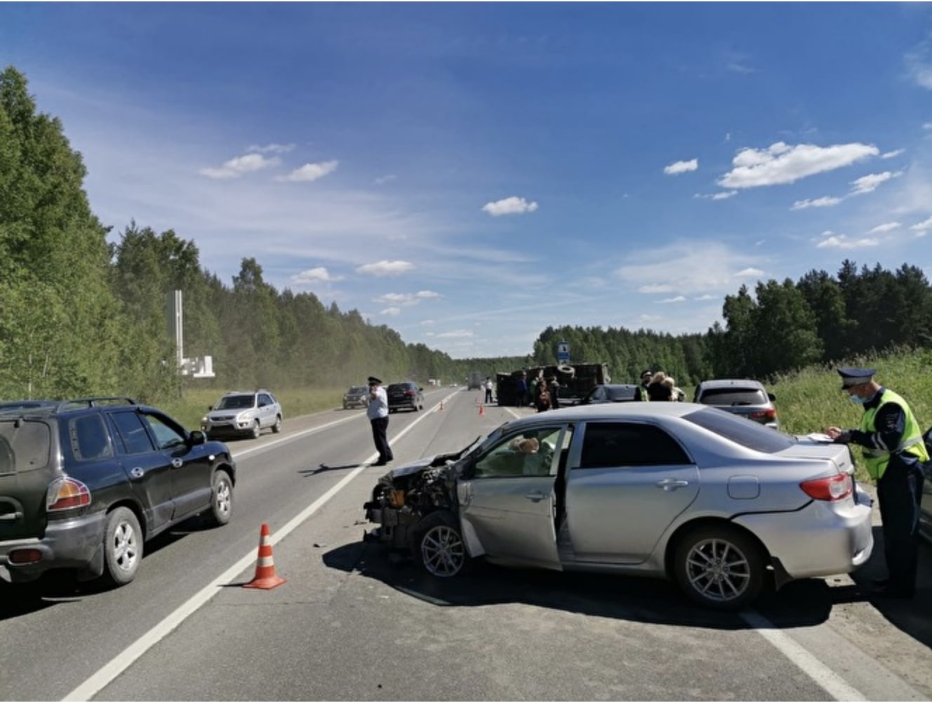
[[666,577],[735,609],[768,583],[870,557],[870,498],[846,445],[790,437],[694,403],[606,403],[523,417],[466,449],[399,466],[364,505],[367,534],[428,573],[476,557]]

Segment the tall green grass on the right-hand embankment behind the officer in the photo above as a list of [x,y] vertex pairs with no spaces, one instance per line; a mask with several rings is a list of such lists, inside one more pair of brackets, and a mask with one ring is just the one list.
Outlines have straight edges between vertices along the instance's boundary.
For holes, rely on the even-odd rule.
[[[780,376],[768,389],[776,397],[777,415],[784,432],[806,435],[824,432],[829,426],[843,429],[860,426],[863,409],[842,391],[840,366],[876,369],[874,380],[897,392],[910,404],[919,426],[932,426],[932,352],[897,350],[888,354],[855,358],[826,367],[810,367]],[[852,447],[857,479],[868,480],[861,452]]]

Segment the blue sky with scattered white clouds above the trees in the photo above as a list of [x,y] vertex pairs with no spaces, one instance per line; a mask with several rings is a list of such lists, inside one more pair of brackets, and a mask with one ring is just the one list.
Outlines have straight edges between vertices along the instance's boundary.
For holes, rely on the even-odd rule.
[[932,272],[932,7],[0,4],[91,208],[454,358]]

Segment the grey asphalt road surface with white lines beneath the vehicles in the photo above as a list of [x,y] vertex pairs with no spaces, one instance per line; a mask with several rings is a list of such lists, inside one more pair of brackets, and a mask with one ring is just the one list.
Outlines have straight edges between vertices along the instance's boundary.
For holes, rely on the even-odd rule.
[[[391,415],[395,464],[460,449],[529,410],[433,389]],[[441,405],[442,403],[442,405]],[[16,700],[927,700],[932,550],[912,602],[854,578],[790,584],[754,610],[693,606],[664,581],[479,565],[450,583],[363,543],[384,467],[364,411],[230,443],[233,520],[147,546],[136,580],[0,584],[0,698]],[[255,575],[260,528],[285,583]],[[878,534],[879,536],[879,534]]]

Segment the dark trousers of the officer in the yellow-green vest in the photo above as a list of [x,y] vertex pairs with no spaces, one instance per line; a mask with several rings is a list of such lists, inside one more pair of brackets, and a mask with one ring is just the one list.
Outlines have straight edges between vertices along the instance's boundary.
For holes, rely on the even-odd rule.
[[877,481],[880,517],[884,523],[884,558],[889,587],[902,595],[916,588],[919,561],[919,511],[923,497],[923,470],[897,454],[890,457],[884,475]]

